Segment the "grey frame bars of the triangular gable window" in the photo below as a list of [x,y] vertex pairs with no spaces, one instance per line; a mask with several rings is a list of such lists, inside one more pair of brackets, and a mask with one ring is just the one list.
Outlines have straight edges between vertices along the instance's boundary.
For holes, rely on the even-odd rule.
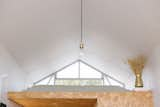
[[[78,72],[79,72],[79,73],[78,73],[78,78],[57,78],[57,73],[58,73],[58,72],[61,72],[62,70],[66,69],[66,68],[69,67],[69,66],[72,66],[73,64],[75,64],[75,63],[77,63],[77,62],[78,62],[78,65],[79,65],[79,66],[78,66]],[[96,72],[99,72],[99,73],[101,74],[101,78],[80,78],[80,63],[83,63],[84,65],[92,68],[92,69],[95,70]],[[98,86],[106,86],[106,84],[105,84],[105,80],[106,80],[107,83],[108,83],[108,85],[110,86],[110,85],[112,85],[112,83],[111,83],[111,81],[110,81],[110,79],[111,79],[111,80],[115,81],[116,83],[118,83],[119,86],[125,88],[125,84],[124,84],[123,82],[115,79],[115,78],[112,77],[112,76],[107,75],[106,73],[101,72],[101,71],[98,70],[97,68],[89,65],[88,63],[86,63],[86,62],[84,62],[84,61],[82,61],[82,60],[76,60],[76,61],[74,61],[74,62],[72,62],[72,63],[64,66],[63,68],[57,70],[56,72],[54,72],[54,73],[52,73],[52,74],[50,74],[50,75],[42,78],[41,80],[39,80],[39,81],[37,81],[37,82],[34,82],[33,85],[37,85],[37,84],[39,84],[41,81],[49,78],[49,82],[48,82],[47,84],[45,84],[45,85],[48,85],[48,84],[50,83],[50,80],[53,79],[53,77],[54,77],[54,83],[51,84],[51,85],[55,85],[55,81],[56,81],[56,80],[102,80],[102,83],[103,83],[103,84],[102,84],[102,85],[98,85]],[[107,86],[108,86],[108,85],[107,85]],[[77,85],[76,85],[76,86],[77,86]],[[88,86],[88,85],[87,85],[87,86]],[[97,85],[96,85],[96,86],[97,86]]]

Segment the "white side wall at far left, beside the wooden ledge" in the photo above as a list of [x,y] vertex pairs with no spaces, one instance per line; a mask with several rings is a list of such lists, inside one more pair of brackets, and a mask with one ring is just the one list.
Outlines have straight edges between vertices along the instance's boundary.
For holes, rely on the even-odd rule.
[[0,100],[14,107],[7,100],[8,91],[21,91],[25,86],[26,74],[22,72],[14,57],[0,45]]

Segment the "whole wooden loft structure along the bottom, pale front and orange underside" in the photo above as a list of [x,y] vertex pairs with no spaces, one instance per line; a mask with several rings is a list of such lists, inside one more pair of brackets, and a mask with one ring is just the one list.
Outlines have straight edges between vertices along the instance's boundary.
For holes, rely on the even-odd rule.
[[10,92],[24,107],[153,107],[152,92]]

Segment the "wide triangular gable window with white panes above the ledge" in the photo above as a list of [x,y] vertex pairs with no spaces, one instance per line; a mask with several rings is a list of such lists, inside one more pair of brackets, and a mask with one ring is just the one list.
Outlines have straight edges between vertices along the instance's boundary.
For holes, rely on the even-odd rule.
[[104,74],[82,60],[77,60],[34,84],[64,86],[124,86],[120,81]]

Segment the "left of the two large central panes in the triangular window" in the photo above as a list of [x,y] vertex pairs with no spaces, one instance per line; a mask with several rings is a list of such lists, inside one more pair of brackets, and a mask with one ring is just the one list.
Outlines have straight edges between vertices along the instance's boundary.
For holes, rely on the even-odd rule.
[[57,73],[57,78],[78,78],[78,62]]

